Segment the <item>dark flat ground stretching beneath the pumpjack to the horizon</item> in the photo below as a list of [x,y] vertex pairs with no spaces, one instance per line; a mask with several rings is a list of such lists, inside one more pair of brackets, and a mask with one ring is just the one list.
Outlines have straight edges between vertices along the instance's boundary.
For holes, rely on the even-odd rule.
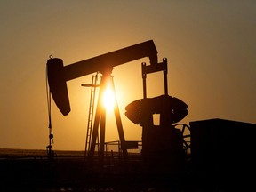
[[100,164],[97,156],[90,163],[84,151],[55,153],[50,160],[45,150],[1,148],[0,191],[192,192],[226,191],[223,188],[227,188],[225,183],[220,185],[215,173],[194,174],[189,163],[177,169],[177,164],[145,165],[141,156],[132,155],[125,161],[118,154],[112,154],[105,156],[104,163]]

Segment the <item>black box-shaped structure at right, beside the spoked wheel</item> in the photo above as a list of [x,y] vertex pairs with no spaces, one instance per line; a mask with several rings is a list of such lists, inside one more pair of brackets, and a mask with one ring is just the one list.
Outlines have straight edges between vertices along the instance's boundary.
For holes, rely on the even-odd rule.
[[224,189],[254,185],[256,124],[219,118],[189,124],[192,167],[198,182]]

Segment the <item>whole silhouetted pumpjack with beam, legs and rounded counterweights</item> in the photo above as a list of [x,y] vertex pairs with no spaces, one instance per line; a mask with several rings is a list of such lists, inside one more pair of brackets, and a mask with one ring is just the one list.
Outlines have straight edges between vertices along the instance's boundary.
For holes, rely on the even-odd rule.
[[[106,111],[102,108],[101,97],[102,92],[109,79],[114,87],[112,70],[121,64],[128,63],[132,60],[141,58],[149,58],[149,65],[145,62],[141,64],[143,79],[143,99],[135,100],[125,109],[127,116],[134,124],[142,126],[142,155],[150,162],[156,156],[162,156],[169,161],[170,159],[180,160],[174,156],[181,156],[184,146],[184,133],[182,130],[176,129],[173,124],[178,123],[181,119],[188,115],[188,105],[178,98],[168,95],[167,86],[167,59],[158,62],[157,50],[153,40],[149,40],[140,44],[125,47],[114,52],[108,52],[91,59],[78,61],[64,66],[63,60],[59,58],[50,58],[47,60],[47,76],[48,84],[52,98],[60,109],[63,116],[67,116],[71,111],[68,99],[67,82],[81,76],[87,76],[92,73],[100,73],[100,93],[96,114],[94,118],[92,140],[89,149],[89,156],[94,156],[96,139],[98,137],[98,129],[100,125],[100,151],[101,159],[104,156],[105,142],[105,121]],[[148,74],[158,71],[164,72],[164,94],[155,98],[147,97],[146,78]],[[124,157],[128,156],[126,141],[124,138],[124,130],[121,116],[117,103],[115,105],[115,116],[119,139]],[[160,124],[153,124],[153,115],[160,115]],[[187,146],[188,147],[188,146]],[[170,157],[170,158],[169,158]],[[163,159],[161,158],[161,159]],[[176,161],[175,160],[175,161]]]

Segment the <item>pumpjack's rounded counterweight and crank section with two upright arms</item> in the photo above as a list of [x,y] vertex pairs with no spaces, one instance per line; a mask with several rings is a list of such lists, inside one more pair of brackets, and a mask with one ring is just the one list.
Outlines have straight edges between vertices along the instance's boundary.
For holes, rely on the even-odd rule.
[[[168,95],[166,58],[157,65],[142,63],[141,68],[143,99],[127,105],[125,115],[142,126],[142,156],[152,172],[180,172],[189,145],[183,136],[186,126],[180,130],[173,124],[188,115],[188,105]],[[147,98],[147,75],[158,71],[164,73],[164,95]],[[160,115],[160,124],[154,124],[155,114]]]

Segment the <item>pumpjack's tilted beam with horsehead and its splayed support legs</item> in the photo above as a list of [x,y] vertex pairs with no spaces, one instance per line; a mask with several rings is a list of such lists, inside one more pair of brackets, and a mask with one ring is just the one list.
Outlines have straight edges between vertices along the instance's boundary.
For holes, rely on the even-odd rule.
[[[96,138],[98,135],[98,127],[100,125],[100,156],[103,159],[104,155],[104,142],[105,142],[105,123],[106,123],[106,109],[102,108],[101,98],[102,89],[108,84],[114,88],[113,78],[111,76],[114,67],[124,64],[132,60],[139,60],[140,58],[148,57],[151,65],[158,65],[157,63],[157,51],[156,46],[152,40],[144,43],[135,44],[115,52],[108,52],[106,54],[88,59],[82,60],[68,66],[63,65],[63,60],[58,58],[50,58],[47,61],[47,75],[48,84],[50,86],[50,92],[52,98],[55,101],[60,112],[66,116],[70,112],[70,105],[68,100],[68,88],[67,81],[75,79],[80,76],[86,76],[95,72],[102,74],[100,82],[100,95],[98,100],[98,106],[96,109],[94,125],[92,130],[92,140],[89,151],[89,156],[93,156],[96,145]],[[123,125],[117,102],[115,105],[116,125],[121,140],[121,146],[123,149],[123,155],[127,156],[127,149],[125,146]]]

